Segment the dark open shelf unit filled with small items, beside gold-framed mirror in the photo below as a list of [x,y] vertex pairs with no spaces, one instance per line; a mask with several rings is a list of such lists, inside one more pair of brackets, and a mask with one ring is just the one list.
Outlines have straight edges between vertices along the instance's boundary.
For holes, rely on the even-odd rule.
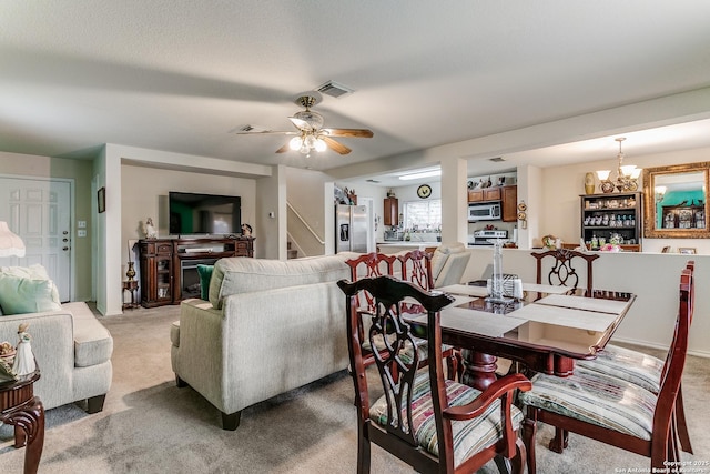
[[[621,238],[625,251],[641,251],[643,193],[582,194],[581,238],[587,248],[597,250],[601,240],[609,243],[612,234]],[[596,239],[595,239],[596,238]],[[597,242],[597,246],[592,242]]]

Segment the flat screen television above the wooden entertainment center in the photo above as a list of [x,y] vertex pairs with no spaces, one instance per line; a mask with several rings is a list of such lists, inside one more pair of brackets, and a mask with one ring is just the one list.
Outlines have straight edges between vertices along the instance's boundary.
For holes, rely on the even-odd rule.
[[241,234],[242,199],[239,195],[169,192],[172,235]]

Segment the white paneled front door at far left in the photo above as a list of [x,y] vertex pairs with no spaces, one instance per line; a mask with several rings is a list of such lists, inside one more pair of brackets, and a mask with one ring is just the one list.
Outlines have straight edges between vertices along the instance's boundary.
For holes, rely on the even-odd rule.
[[70,301],[71,183],[0,177],[0,221],[6,221],[27,248],[24,258],[0,259],[0,264],[41,264],[57,284],[60,300]]

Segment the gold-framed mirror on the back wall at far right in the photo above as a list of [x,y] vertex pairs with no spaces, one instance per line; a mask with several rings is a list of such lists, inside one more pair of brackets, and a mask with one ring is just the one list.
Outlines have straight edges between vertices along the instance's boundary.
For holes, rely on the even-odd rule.
[[710,162],[643,170],[643,236],[707,239]]

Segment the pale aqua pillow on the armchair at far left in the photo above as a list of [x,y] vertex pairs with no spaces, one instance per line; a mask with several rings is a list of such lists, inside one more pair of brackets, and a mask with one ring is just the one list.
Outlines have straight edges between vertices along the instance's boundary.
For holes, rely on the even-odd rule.
[[31,280],[0,273],[0,302],[4,314],[39,313],[61,310],[54,301],[57,288],[51,280]]

